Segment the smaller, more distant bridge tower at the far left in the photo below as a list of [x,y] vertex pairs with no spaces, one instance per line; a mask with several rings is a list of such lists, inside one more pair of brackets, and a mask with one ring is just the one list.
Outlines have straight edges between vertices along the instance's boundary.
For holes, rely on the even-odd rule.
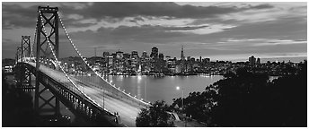
[[[29,61],[31,56],[31,42],[30,36],[22,36],[22,47],[21,47],[21,61]],[[24,58],[27,57],[27,58]],[[21,73],[19,77],[20,88],[22,89],[33,89],[31,86],[31,71],[24,65],[21,65]]]

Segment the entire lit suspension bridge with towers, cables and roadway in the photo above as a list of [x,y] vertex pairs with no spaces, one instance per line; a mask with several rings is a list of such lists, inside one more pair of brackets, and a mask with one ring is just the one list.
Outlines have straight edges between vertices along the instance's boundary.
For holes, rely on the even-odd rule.
[[[136,126],[138,112],[142,107],[150,107],[150,102],[121,90],[105,79],[104,73],[93,70],[70,38],[57,7],[39,6],[37,14],[32,44],[31,36],[22,36],[15,65],[19,87],[35,90],[34,109],[37,115],[49,112],[60,116],[61,102],[75,116],[93,125]],[[89,68],[90,74],[101,79],[101,83],[67,73],[65,64],[59,61],[59,26],[65,32],[66,40]],[[32,85],[31,77],[34,76],[35,85]],[[43,96],[46,91],[52,96]]]

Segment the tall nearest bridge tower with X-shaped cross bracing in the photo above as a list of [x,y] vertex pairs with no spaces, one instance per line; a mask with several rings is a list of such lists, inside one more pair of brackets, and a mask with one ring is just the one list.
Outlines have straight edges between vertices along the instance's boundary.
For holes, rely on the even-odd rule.
[[[55,115],[60,115],[59,100],[52,94],[49,99],[44,99],[42,93],[47,91],[48,88],[40,89],[40,60],[41,59],[54,59],[53,53],[58,58],[59,56],[59,34],[58,34],[58,8],[57,7],[38,7],[38,22],[37,22],[37,35],[36,35],[36,89],[34,108],[40,114],[42,108],[49,105]],[[48,33],[49,32],[49,33]],[[48,38],[49,39],[48,39]],[[41,39],[42,38],[42,39]],[[50,50],[52,47],[52,50]],[[50,62],[48,63],[50,64]],[[57,67],[56,67],[57,69]],[[44,104],[40,105],[39,100],[43,100]],[[52,100],[55,99],[53,105]]]

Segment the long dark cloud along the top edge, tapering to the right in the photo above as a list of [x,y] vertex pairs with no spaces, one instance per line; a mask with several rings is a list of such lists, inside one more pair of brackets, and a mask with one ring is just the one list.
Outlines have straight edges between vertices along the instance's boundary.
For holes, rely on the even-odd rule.
[[221,7],[221,6],[194,6],[179,5],[175,3],[93,3],[92,6],[84,8],[85,17],[103,18],[110,17],[130,17],[137,15],[148,16],[170,16],[176,18],[205,18],[214,17],[217,14],[236,13],[251,9],[272,8],[269,4],[248,5],[245,7]]

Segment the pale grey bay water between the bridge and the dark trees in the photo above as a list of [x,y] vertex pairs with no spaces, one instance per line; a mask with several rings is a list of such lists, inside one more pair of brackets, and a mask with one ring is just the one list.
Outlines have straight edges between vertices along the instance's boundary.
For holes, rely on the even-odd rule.
[[[181,91],[176,90],[177,86],[184,89],[184,97],[192,91],[203,91],[206,86],[222,79],[222,76],[192,75],[192,76],[165,76],[154,77],[146,75],[126,76],[113,75],[107,77],[121,90],[126,90],[138,99],[146,99],[154,102],[164,100],[172,104],[172,99],[181,98]],[[102,80],[96,80],[101,83]]]

